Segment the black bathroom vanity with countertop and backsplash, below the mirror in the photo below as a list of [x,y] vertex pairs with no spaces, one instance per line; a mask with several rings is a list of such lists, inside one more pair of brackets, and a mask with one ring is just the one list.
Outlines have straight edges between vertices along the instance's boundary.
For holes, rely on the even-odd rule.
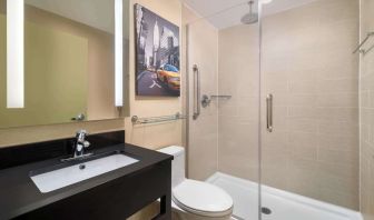
[[[159,213],[154,219],[170,219],[171,156],[125,143],[125,131],[92,134],[87,139],[91,142],[88,152],[94,157],[78,161],[61,162],[71,157],[73,139],[0,149],[0,219],[119,220],[158,199]],[[102,171],[104,163],[111,160],[116,163],[118,157],[130,162]],[[104,163],[96,168],[102,169],[94,172],[104,173],[69,184],[72,173],[78,172],[79,178],[80,171],[83,174],[99,160]],[[47,177],[51,182],[53,178],[48,179],[51,172],[60,179],[47,188],[31,179],[39,176],[42,182]],[[61,177],[63,173],[69,174]],[[56,187],[61,182],[66,186]]]

